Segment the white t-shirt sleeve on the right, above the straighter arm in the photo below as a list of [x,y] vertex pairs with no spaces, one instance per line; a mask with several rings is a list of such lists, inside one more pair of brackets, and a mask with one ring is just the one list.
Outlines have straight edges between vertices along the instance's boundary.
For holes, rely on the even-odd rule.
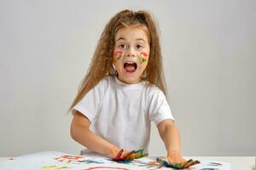
[[160,89],[154,91],[151,98],[149,105],[149,119],[150,121],[154,121],[156,125],[166,119],[172,119],[174,121],[166,96]]

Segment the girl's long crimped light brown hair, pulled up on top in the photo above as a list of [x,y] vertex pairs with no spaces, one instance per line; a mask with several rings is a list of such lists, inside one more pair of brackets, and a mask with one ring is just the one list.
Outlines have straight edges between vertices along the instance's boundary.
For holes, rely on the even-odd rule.
[[134,12],[126,9],[115,14],[113,18],[109,20],[107,26],[105,26],[96,46],[95,53],[93,54],[90,67],[79,86],[78,94],[73,100],[69,111],[71,111],[73,106],[79,103],[79,101],[84,98],[84,95],[87,94],[91,88],[94,88],[103,77],[106,75],[116,75],[116,71],[113,69],[112,65],[115,34],[121,27],[134,25],[146,26],[148,28],[150,54],[143,79],[148,81],[149,84],[154,84],[166,94],[160,40],[154,20],[146,11],[141,10]]

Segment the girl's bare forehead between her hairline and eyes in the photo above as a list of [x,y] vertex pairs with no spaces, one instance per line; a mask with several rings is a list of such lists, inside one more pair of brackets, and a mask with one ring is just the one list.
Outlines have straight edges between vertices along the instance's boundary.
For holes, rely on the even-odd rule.
[[141,40],[148,42],[148,28],[146,26],[129,26],[122,27],[116,32],[114,40],[136,41]]

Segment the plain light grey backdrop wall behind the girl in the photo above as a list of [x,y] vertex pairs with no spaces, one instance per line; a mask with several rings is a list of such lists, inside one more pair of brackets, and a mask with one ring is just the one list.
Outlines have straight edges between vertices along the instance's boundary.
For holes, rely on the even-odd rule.
[[[1,0],[0,156],[79,154],[67,109],[103,27],[125,8],[158,20],[183,156],[255,156],[253,0]],[[149,151],[166,154],[154,124]]]

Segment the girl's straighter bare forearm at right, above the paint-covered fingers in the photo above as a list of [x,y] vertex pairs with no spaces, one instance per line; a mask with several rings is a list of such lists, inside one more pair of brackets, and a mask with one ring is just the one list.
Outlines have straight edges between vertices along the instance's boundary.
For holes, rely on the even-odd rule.
[[181,142],[176,124],[171,119],[167,119],[160,122],[157,128],[166,145],[168,161],[172,164],[186,161],[181,155]]

